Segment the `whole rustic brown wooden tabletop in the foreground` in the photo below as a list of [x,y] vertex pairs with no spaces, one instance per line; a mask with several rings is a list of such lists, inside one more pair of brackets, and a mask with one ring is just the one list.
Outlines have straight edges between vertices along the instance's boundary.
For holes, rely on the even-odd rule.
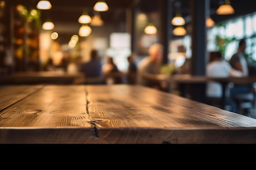
[[256,119],[137,85],[0,86],[1,144],[255,144]]

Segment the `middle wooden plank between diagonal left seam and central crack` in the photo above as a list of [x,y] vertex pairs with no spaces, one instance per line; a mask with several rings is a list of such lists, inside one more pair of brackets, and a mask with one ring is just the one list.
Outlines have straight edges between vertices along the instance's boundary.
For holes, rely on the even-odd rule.
[[95,137],[86,104],[82,85],[44,86],[0,113],[0,143],[83,143]]

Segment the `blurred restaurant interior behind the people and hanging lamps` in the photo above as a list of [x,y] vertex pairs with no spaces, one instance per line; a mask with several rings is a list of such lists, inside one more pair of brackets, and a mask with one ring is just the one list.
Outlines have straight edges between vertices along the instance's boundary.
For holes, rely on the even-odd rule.
[[[107,11],[95,11],[98,0],[49,0],[50,9],[38,9],[38,2],[0,0],[0,75],[43,71],[50,58],[59,66],[58,71],[65,71],[60,66],[63,59],[81,57],[86,62],[92,49],[99,51],[102,63],[112,56],[119,70],[126,71],[127,57],[135,53],[139,63],[155,42],[164,45],[163,64],[175,69],[193,58],[199,47],[193,49],[192,42],[202,51],[220,50],[229,60],[238,40],[245,39],[249,60],[256,60],[256,8],[252,0],[105,0]],[[231,4],[234,13],[216,12],[225,3]],[[202,11],[202,19],[195,19],[193,11]],[[89,23],[79,21],[85,14],[91,19]],[[176,15],[184,18],[182,26],[171,22]],[[197,15],[200,18],[200,13]],[[205,20],[205,29],[195,27],[200,20]],[[54,27],[43,28],[45,22]],[[153,32],[147,32],[147,26],[153,26]],[[200,29],[203,38],[206,33],[205,45],[196,38],[193,41],[193,30]],[[203,58],[207,62],[207,53]]]

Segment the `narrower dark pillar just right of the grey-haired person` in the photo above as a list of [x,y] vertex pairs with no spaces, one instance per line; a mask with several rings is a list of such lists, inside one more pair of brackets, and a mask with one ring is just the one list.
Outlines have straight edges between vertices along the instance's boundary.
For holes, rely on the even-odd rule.
[[171,19],[172,19],[172,4],[171,0],[159,1],[159,13],[160,13],[160,30],[159,41],[164,46],[163,64],[168,64],[169,42],[171,41]]

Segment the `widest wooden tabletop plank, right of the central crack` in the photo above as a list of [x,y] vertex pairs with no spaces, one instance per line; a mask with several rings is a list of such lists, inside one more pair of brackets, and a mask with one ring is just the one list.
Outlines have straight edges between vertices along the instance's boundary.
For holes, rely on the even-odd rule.
[[141,86],[87,91],[103,143],[256,143],[256,119]]

